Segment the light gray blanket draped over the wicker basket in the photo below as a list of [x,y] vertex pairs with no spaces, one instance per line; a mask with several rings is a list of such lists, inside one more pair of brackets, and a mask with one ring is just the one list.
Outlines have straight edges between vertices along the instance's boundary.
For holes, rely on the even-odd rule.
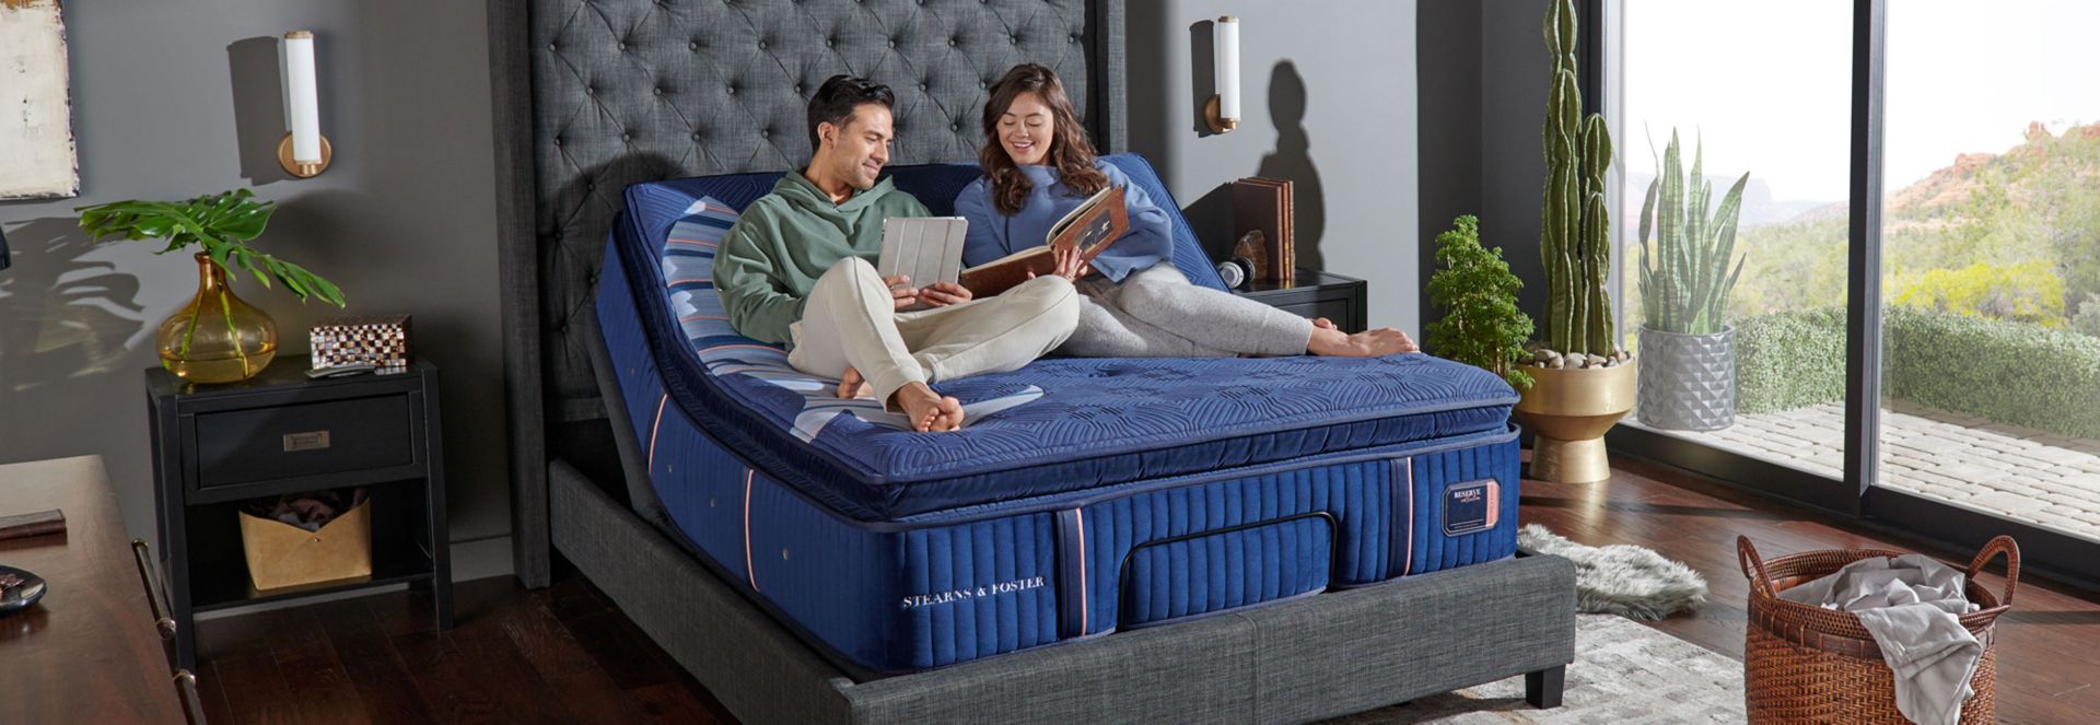
[[1961,628],[1959,616],[1976,612],[1961,584],[1961,572],[1930,557],[1871,557],[1779,597],[1856,614],[1896,672],[1896,710],[1911,723],[1953,725],[1982,658],[1982,643]]

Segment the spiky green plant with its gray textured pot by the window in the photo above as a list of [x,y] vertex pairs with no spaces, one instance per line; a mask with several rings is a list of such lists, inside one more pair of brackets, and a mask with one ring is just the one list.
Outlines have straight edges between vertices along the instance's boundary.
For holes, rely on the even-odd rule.
[[[1735,256],[1735,223],[1743,212],[1743,172],[1720,198],[1703,177],[1705,143],[1693,149],[1684,177],[1678,132],[1670,132],[1661,168],[1640,202],[1640,370],[1638,418],[1670,431],[1720,431],[1735,424],[1735,328],[1728,292],[1743,275]],[[1648,248],[1648,233],[1655,233]],[[1728,258],[1735,256],[1730,271]]]

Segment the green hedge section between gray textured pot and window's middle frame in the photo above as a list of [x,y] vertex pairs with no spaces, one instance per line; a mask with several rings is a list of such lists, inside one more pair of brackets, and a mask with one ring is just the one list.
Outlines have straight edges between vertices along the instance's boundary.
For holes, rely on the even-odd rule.
[[1735,385],[1735,410],[1745,414],[1844,399],[1844,309],[1739,319]]

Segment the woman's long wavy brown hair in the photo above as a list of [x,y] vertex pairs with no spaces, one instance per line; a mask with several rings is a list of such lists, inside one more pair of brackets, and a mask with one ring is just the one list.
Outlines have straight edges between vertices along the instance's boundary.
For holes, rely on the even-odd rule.
[[1000,116],[1006,116],[1006,109],[1023,92],[1033,92],[1050,107],[1054,139],[1050,141],[1048,160],[1056,166],[1065,187],[1079,198],[1109,187],[1109,177],[1100,168],[1094,168],[1094,143],[1086,141],[1086,128],[1079,126],[1079,113],[1071,109],[1071,99],[1065,97],[1065,84],[1048,67],[1021,63],[1006,71],[1006,78],[1000,78],[998,84],[991,84],[991,101],[985,101],[985,149],[976,151],[976,164],[985,168],[985,177],[991,177],[991,208],[998,208],[1006,216],[1018,214],[1021,204],[1029,200],[1029,191],[1035,187],[1014,166],[1014,160],[1006,156],[1006,147],[1000,145]]

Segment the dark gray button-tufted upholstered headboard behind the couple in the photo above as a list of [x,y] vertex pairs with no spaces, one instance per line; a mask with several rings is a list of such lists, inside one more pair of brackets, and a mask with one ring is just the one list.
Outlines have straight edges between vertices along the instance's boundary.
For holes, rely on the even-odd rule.
[[[855,74],[897,92],[890,164],[970,162],[987,86],[1065,80],[1126,149],[1124,0],[489,0],[504,385],[519,567],[544,536],[548,431],[601,418],[588,303],[638,181],[802,168],[804,103]],[[544,538],[540,542],[544,551]],[[542,574],[544,576],[544,574]]]

